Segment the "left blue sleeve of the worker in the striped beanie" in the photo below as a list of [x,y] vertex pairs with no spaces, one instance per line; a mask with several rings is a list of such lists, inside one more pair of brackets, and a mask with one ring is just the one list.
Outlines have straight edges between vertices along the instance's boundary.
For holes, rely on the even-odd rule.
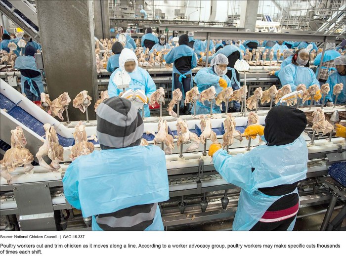
[[79,169],[74,163],[70,164],[65,171],[62,184],[64,187],[64,195],[66,200],[76,209],[81,209],[79,201],[78,184],[79,184]]

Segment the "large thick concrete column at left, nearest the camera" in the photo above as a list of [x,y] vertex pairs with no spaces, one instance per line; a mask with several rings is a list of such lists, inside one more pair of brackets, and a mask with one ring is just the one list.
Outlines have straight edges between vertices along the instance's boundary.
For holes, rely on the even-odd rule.
[[[91,0],[36,0],[43,64],[50,99],[82,90],[92,97],[89,119],[95,120],[98,99],[93,6]],[[69,107],[71,121],[86,120],[85,113]]]

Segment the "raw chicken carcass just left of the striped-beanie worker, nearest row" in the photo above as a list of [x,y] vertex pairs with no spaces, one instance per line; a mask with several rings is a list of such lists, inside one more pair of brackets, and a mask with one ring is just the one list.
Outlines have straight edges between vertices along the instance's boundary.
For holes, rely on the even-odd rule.
[[88,155],[94,151],[94,144],[87,141],[87,132],[81,121],[75,127],[73,137],[75,138],[75,145],[71,149],[70,159],[72,161],[79,156]]

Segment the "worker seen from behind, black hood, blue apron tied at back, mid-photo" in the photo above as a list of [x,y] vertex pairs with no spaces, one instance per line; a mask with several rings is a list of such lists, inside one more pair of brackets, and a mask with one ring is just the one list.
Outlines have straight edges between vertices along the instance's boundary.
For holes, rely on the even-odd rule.
[[[173,63],[173,77],[172,77],[172,91],[179,88],[182,92],[183,99],[185,99],[186,92],[188,92],[192,84],[192,69],[197,66],[197,56],[193,49],[188,46],[189,38],[187,35],[179,37],[179,46],[174,47],[169,53],[165,55],[166,63]],[[181,100],[181,112],[185,115],[189,114],[189,104],[183,104]]]

